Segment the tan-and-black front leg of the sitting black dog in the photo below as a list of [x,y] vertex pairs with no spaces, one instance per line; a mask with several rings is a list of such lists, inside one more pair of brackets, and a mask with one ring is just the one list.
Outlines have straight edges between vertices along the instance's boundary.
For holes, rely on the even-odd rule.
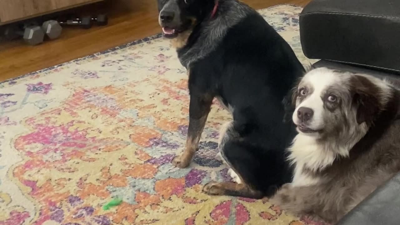
[[186,137],[186,145],[182,155],[175,157],[172,164],[179,168],[188,167],[194,153],[198,150],[200,137],[206,125],[208,113],[211,109],[212,99],[208,94],[201,96],[191,94],[189,105],[189,128]]

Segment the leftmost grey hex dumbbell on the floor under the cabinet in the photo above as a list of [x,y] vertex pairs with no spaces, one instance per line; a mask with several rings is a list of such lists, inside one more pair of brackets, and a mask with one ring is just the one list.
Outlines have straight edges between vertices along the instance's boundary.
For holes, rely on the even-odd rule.
[[40,44],[44,40],[44,32],[40,26],[24,26],[20,29],[16,25],[10,25],[4,30],[4,37],[7,40],[14,40],[21,36],[30,45]]

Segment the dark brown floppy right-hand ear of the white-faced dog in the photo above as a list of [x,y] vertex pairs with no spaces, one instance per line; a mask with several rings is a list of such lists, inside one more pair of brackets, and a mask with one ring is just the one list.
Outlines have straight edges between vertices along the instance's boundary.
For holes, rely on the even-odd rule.
[[352,106],[357,110],[357,123],[372,124],[374,118],[382,110],[380,87],[364,76],[354,75],[350,78]]

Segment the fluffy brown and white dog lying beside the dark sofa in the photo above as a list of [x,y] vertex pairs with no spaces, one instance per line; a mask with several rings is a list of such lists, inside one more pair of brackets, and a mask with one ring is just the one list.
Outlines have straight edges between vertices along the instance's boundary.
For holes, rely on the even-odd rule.
[[400,171],[400,92],[388,80],[317,68],[293,103],[294,178],[270,201],[336,223]]

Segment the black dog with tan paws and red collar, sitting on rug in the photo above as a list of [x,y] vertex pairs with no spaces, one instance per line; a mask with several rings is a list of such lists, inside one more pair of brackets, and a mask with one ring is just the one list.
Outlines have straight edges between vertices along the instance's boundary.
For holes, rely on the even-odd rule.
[[[158,0],[159,22],[188,69],[186,147],[173,160],[184,168],[198,150],[214,97],[234,121],[220,134],[220,153],[238,183],[209,183],[211,195],[261,198],[292,179],[286,148],[295,135],[282,103],[304,74],[288,43],[238,0]],[[291,115],[291,112],[287,113]]]

